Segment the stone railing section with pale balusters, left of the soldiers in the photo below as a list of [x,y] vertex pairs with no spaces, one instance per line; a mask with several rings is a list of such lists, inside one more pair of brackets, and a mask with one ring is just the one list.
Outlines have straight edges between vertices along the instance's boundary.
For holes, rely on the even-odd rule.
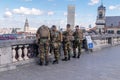
[[37,54],[35,39],[0,41],[0,71],[1,66],[29,63]]

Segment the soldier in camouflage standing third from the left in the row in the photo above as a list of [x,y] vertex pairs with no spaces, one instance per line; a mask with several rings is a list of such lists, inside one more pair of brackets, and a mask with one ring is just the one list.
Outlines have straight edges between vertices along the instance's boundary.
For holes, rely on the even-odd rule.
[[70,60],[71,56],[71,41],[73,39],[73,32],[71,30],[70,24],[66,26],[67,30],[63,32],[63,51],[64,51],[64,59],[63,61]]

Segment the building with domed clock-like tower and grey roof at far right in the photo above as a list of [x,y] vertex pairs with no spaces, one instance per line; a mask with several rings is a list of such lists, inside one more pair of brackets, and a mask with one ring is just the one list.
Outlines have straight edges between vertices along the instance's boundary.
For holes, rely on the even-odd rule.
[[120,16],[106,16],[106,8],[103,4],[98,7],[97,12],[97,33],[120,34]]

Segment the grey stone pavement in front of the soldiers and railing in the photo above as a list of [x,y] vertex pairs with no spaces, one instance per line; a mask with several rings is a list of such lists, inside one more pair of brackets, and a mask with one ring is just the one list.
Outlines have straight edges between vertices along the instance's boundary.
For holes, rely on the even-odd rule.
[[120,80],[120,46],[49,66],[35,63],[0,73],[0,80]]

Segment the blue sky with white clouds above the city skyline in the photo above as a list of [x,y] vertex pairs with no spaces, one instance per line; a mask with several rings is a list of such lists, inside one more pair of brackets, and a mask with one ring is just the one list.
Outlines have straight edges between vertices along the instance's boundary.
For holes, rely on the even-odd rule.
[[26,18],[30,27],[64,28],[68,5],[75,6],[75,25],[94,27],[101,2],[106,16],[120,16],[120,0],[0,0],[0,28],[23,28]]

